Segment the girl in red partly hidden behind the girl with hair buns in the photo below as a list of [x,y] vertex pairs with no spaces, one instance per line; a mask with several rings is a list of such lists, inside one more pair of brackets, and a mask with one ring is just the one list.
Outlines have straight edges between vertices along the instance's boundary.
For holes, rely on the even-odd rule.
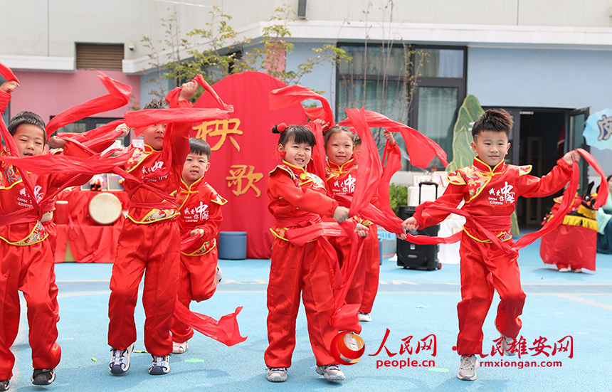
[[[326,182],[327,190],[332,196],[352,196],[354,194],[355,185],[357,183],[357,165],[353,157],[354,139],[355,136],[353,132],[347,127],[335,125],[325,132],[325,153],[327,154],[327,171],[329,173]],[[347,304],[363,303],[366,270],[369,270],[368,266],[371,264],[371,250],[374,241],[376,242],[376,265],[379,265],[376,225],[370,221],[363,221],[359,219],[359,217],[355,218],[361,221],[361,223],[357,223],[355,231],[357,231],[360,236],[366,238],[364,240],[362,257],[359,258],[359,264],[355,270],[355,275],[350,284],[349,291],[347,292],[347,297],[344,300]],[[347,260],[350,256],[351,238],[330,237],[328,240],[337,250],[338,260],[340,265],[342,265],[344,260]],[[375,279],[376,285],[378,285],[377,273]],[[367,312],[364,312],[364,310],[367,310]],[[369,312],[371,312],[371,306],[369,306],[369,309],[359,308],[359,321],[371,321]]]

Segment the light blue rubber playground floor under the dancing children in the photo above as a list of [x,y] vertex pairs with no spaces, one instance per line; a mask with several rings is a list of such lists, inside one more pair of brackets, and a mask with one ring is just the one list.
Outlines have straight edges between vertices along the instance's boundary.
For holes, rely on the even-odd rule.
[[[519,265],[527,293],[521,335],[526,350],[520,359],[502,359],[488,352],[499,338],[494,325],[495,299],[484,327],[488,355],[480,359],[478,380],[473,382],[455,377],[459,366],[453,351],[458,333],[459,265],[443,264],[441,270],[428,272],[404,270],[384,260],[373,321],[363,323],[365,355],[359,363],[342,367],[346,375],[342,383],[328,382],[315,374],[302,307],[289,379],[273,384],[265,379],[263,361],[268,342],[265,290],[270,260],[219,260],[219,264],[224,280],[216,294],[211,300],[194,303],[192,309],[218,319],[243,306],[238,322],[248,339],[228,347],[196,334],[185,354],[171,357],[171,372],[165,376],[149,376],[151,357],[145,353],[132,354],[132,365],[125,375],[112,376],[108,371],[107,304],[112,265],[56,265],[61,317],[58,343],[63,350],[56,381],[46,388],[30,382],[31,350],[22,306],[21,329],[13,346],[17,361],[11,391],[592,392],[612,388],[612,255],[597,255],[596,272],[560,273],[539,259],[539,242],[521,250]],[[140,302],[136,320],[139,335],[135,349],[144,350]],[[389,336],[381,348],[387,329]],[[436,338],[435,356],[426,346],[432,335]],[[573,349],[571,358],[569,349]],[[411,366],[401,366],[408,363]]]

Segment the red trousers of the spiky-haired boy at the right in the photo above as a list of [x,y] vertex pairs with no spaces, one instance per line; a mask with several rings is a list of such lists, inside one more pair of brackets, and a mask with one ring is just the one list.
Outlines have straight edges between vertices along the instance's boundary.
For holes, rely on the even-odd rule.
[[[508,245],[514,243],[506,241]],[[491,307],[493,292],[500,295],[495,327],[505,337],[516,338],[522,327],[519,316],[525,294],[521,289],[517,257],[488,243],[473,240],[463,233],[461,246],[461,302],[457,305],[459,336],[457,353],[481,354],[482,324]]]

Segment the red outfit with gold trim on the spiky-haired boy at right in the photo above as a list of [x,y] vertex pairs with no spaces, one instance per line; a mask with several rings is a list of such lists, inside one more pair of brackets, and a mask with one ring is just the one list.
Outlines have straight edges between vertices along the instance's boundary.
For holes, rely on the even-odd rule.
[[[515,211],[517,197],[553,194],[562,189],[571,176],[571,166],[564,159],[559,159],[552,171],[542,178],[530,176],[529,171],[531,166],[506,165],[503,161],[490,167],[476,157],[472,166],[448,175],[450,184],[433,205],[455,208],[465,201],[464,211],[497,238],[512,245],[510,215]],[[417,224],[432,226],[446,216],[448,212],[425,208]],[[463,226],[459,253],[461,302],[457,305],[457,352],[461,355],[479,354],[482,351],[482,324],[492,302],[493,290],[497,290],[501,298],[495,326],[505,337],[516,338],[519,334],[522,326],[519,315],[522,314],[525,295],[521,289],[517,256],[491,245],[470,221]],[[489,275],[492,284],[488,282]]]

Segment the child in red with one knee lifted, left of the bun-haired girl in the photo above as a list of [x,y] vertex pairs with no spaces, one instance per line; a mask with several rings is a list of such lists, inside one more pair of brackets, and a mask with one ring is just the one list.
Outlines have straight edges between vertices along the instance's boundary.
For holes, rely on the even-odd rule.
[[[192,137],[189,139],[189,149],[176,194],[183,238],[188,235],[199,238],[181,251],[179,301],[188,308],[191,301],[208,300],[216,290],[218,252],[215,238],[223,221],[221,206],[227,203],[204,178],[211,166],[209,144]],[[171,331],[174,342],[172,354],[183,354],[194,331],[176,316],[172,319]]]

